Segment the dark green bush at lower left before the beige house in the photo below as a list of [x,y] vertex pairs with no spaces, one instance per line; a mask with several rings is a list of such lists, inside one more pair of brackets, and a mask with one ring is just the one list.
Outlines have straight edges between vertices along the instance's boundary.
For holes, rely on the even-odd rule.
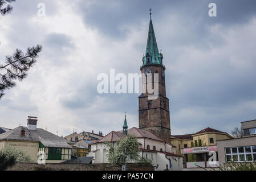
[[16,148],[6,147],[0,150],[0,170],[5,170],[13,166],[15,163],[29,163],[31,157],[25,152]]

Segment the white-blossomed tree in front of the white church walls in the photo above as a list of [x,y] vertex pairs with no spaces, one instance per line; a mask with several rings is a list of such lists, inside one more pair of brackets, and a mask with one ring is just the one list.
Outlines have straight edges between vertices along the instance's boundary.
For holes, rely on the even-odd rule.
[[140,149],[139,142],[136,137],[128,135],[125,138],[119,139],[115,145],[113,143],[105,143],[107,147],[106,157],[109,163],[114,164],[127,164],[131,162],[140,162]]

